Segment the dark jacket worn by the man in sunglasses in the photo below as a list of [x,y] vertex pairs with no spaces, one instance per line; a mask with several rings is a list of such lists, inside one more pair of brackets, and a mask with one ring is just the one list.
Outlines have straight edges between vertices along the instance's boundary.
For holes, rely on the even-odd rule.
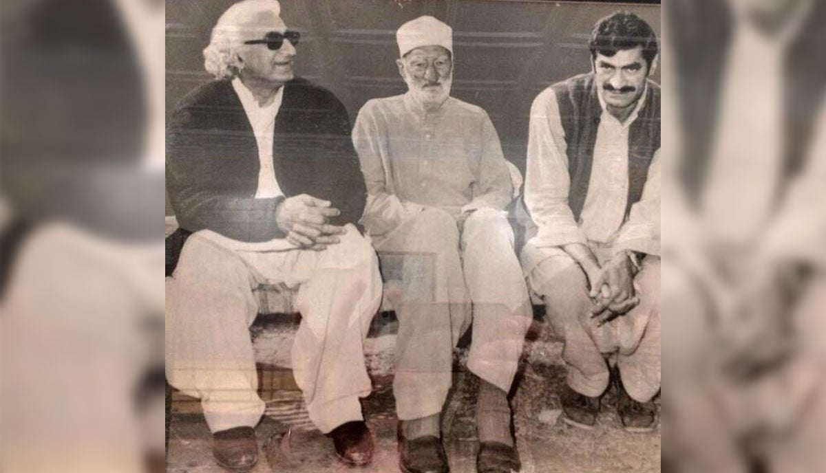
[[[275,223],[284,197],[255,199],[259,153],[244,106],[230,81],[190,92],[167,125],[167,191],[187,232],[211,229],[259,242],[286,236]],[[350,139],[349,116],[329,91],[295,79],[284,86],[275,121],[273,166],[285,196],[332,201],[332,223],[356,224],[366,190]]]

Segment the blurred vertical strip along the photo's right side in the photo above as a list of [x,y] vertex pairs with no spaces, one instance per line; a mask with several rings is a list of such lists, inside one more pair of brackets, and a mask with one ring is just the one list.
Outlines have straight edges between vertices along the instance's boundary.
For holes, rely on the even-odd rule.
[[665,471],[824,471],[826,2],[664,2]]

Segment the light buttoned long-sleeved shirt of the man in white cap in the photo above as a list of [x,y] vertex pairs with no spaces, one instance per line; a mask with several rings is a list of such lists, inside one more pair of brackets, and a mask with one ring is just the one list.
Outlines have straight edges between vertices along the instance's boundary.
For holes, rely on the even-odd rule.
[[478,106],[448,97],[426,111],[410,92],[373,99],[353,128],[367,184],[362,223],[386,234],[427,206],[458,217],[482,207],[504,210],[513,184],[499,136]]

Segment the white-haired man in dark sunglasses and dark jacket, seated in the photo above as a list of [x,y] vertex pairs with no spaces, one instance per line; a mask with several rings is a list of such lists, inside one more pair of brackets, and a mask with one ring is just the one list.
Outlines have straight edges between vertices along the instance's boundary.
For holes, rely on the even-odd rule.
[[310,419],[345,463],[373,456],[359,398],[382,281],[354,225],[364,182],[344,106],[294,78],[299,35],[279,14],[275,0],[231,6],[204,50],[216,80],[168,125],[167,187],[188,238],[167,300],[167,378],[202,400],[216,461],[233,471],[258,458],[249,325],[273,286],[301,312],[292,368]]

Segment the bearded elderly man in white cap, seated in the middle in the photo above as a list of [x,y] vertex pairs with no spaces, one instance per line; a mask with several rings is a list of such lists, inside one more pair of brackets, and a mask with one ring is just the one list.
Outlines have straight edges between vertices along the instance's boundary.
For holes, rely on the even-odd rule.
[[361,221],[380,259],[403,260],[393,382],[401,469],[448,471],[439,414],[453,347],[472,321],[468,368],[482,378],[479,471],[518,470],[506,393],[531,307],[506,218],[510,171],[487,113],[449,97],[450,26],[420,17],[396,40],[409,90],[367,102],[353,140],[368,190]]

